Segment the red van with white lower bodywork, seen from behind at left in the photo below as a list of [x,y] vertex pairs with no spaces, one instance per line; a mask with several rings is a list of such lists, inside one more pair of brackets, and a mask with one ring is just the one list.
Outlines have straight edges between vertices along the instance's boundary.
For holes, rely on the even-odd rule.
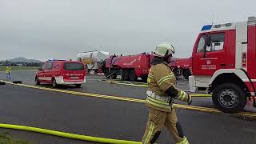
[[36,85],[41,82],[58,85],[75,85],[81,87],[86,82],[86,70],[82,62],[65,60],[47,61],[35,75]]

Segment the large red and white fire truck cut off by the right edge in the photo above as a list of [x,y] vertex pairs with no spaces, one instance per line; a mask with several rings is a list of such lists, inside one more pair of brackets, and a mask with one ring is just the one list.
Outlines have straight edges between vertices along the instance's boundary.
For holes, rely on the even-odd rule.
[[206,88],[214,105],[226,113],[255,98],[256,18],[202,27],[192,53],[190,91]]

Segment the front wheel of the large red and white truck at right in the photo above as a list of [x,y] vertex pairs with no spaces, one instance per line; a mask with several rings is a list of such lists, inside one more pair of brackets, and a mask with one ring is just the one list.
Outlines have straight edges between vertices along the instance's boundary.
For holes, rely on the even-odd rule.
[[212,95],[215,106],[225,113],[235,113],[246,106],[246,95],[242,88],[234,83],[223,83],[216,87]]

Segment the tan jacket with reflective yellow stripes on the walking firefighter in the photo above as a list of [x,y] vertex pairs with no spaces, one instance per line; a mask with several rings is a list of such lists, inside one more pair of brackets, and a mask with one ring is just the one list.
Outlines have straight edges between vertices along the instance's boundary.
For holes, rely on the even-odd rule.
[[170,111],[174,99],[188,101],[188,94],[176,87],[176,78],[168,63],[162,58],[154,57],[148,74],[146,106],[154,110]]

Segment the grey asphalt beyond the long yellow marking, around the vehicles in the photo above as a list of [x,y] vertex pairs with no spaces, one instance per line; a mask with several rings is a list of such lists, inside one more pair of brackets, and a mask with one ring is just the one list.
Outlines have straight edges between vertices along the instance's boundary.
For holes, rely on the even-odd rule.
[[[25,84],[34,85],[34,76],[36,72],[36,70],[13,71],[11,80],[21,80]],[[6,79],[5,72],[0,72],[0,79]],[[88,75],[86,78],[86,84],[81,88],[76,88],[75,86],[59,86],[58,88],[62,90],[80,91],[92,94],[105,94],[119,97],[145,99],[146,87],[115,85],[102,82],[102,79],[104,79],[104,77]],[[177,83],[178,88],[181,90],[190,89],[187,80],[178,81]],[[41,86],[51,87],[48,84],[42,84]],[[186,104],[185,102],[177,103]],[[256,108],[254,108],[252,105],[252,102],[248,101],[245,107],[245,111],[256,112]],[[192,106],[216,108],[211,98],[193,98]]]

